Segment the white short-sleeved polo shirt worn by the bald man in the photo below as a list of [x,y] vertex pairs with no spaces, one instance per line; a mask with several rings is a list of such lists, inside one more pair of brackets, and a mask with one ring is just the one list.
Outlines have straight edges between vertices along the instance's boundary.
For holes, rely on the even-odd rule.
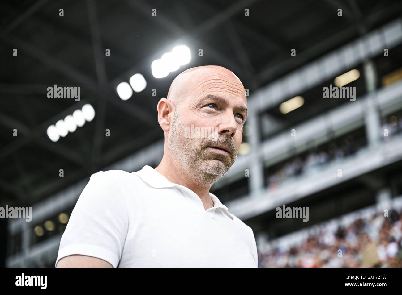
[[82,254],[113,267],[257,267],[252,229],[209,194],[193,191],[150,166],[91,175],[60,241],[59,259]]

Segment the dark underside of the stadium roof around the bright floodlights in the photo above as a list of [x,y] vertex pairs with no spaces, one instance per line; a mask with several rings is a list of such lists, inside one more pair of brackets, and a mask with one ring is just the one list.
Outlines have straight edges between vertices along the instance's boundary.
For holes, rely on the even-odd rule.
[[[0,200],[25,206],[163,138],[156,104],[184,69],[227,67],[252,99],[253,90],[402,14],[398,0],[16,0],[0,5]],[[250,16],[244,16],[246,8]],[[191,62],[166,78],[154,78],[152,61],[181,44],[190,48]],[[105,57],[107,48],[110,57]],[[296,57],[290,56],[292,48]],[[123,101],[115,86],[133,73],[142,73],[148,85]],[[80,86],[81,100],[47,98],[47,87],[54,84]],[[85,103],[94,107],[94,120],[57,142],[49,140],[47,127]]]

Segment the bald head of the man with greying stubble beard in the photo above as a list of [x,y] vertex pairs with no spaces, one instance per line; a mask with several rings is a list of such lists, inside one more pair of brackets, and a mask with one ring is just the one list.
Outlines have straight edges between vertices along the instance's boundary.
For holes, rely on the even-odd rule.
[[158,103],[164,157],[200,186],[211,186],[233,165],[246,116],[245,89],[232,71],[215,65],[187,69]]

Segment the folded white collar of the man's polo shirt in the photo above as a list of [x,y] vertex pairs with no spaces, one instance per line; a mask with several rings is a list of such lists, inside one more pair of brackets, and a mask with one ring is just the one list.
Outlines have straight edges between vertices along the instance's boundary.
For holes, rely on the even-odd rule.
[[[172,183],[170,181],[168,181],[168,179],[166,177],[164,177],[162,174],[160,174],[158,171],[156,171],[154,168],[152,168],[151,166],[144,166],[144,168],[142,168],[139,171],[133,172],[133,174],[137,175],[139,178],[142,179],[142,181],[144,181],[146,184],[148,184],[151,187],[155,187],[155,188],[162,188],[162,187],[174,187],[175,185],[178,185],[176,183]],[[213,208],[217,209],[217,208],[221,208],[222,211],[230,218],[233,220],[233,217],[229,214],[228,212],[228,207],[226,207],[224,204],[222,204],[221,201],[219,201],[219,199],[217,198],[216,195],[214,195],[213,193],[209,193],[209,196],[211,197],[212,201],[213,201]],[[212,209],[212,208],[209,208]],[[208,209],[208,210],[209,210]]]

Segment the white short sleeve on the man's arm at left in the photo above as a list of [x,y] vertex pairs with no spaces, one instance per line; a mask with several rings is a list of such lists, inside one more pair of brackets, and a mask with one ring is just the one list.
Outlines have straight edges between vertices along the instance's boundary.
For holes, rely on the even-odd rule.
[[91,175],[60,241],[57,262],[68,255],[93,256],[117,267],[129,227],[123,190],[112,171]]

